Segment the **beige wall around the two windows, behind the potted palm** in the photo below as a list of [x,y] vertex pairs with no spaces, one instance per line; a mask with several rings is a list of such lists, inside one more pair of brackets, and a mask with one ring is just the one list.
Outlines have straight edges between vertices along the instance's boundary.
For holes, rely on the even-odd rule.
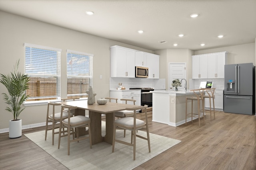
[[[81,51],[94,54],[93,58],[93,90],[96,99],[109,96],[110,89],[110,46],[120,45],[131,49],[153,53],[132,45],[119,43],[102,37],[65,29],[40,21],[23,18],[0,11],[0,73],[8,74],[15,62],[20,59],[21,72],[24,72],[24,43],[43,45],[62,49],[61,53],[61,97],[66,97],[66,50]],[[100,79],[102,75],[102,79]],[[0,84],[0,94],[7,92]],[[7,105],[0,95],[0,129],[9,127],[12,114],[5,111]],[[36,124],[46,121],[46,105],[29,106],[20,114],[22,125]]]

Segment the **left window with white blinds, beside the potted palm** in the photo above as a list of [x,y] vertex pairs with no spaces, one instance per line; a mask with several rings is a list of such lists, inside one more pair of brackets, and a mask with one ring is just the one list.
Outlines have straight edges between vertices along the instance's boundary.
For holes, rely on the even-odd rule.
[[24,44],[25,73],[30,76],[29,101],[60,99],[61,49]]

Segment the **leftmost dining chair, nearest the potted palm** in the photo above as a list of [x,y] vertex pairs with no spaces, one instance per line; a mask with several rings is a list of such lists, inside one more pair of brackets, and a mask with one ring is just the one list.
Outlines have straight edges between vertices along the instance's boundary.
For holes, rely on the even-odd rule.
[[[52,145],[54,145],[54,135],[58,134],[59,132],[55,132],[55,129],[59,128],[60,120],[68,118],[68,113],[65,112],[62,115],[62,119],[60,117],[61,113],[55,113],[55,106],[60,106],[60,103],[54,103],[54,102],[48,102],[48,107],[47,107],[47,113],[46,113],[46,127],[45,127],[45,137],[44,140],[46,141],[47,138],[47,131],[52,130]],[[50,106],[52,106],[52,114],[50,115]],[[73,113],[71,114],[73,116]],[[48,124],[52,122],[52,127],[48,127]],[[64,130],[63,130],[64,132]]]

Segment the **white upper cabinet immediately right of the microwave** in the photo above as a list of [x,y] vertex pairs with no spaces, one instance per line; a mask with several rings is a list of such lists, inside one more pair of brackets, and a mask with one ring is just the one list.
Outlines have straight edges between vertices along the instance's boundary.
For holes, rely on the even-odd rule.
[[147,54],[148,78],[159,79],[159,55]]

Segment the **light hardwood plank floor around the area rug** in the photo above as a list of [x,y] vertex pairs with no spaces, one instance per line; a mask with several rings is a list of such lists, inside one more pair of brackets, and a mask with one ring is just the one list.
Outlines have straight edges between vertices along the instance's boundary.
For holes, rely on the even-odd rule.
[[[135,170],[256,170],[256,116],[216,111],[216,119],[210,121],[208,114],[201,127],[198,120],[172,127],[151,121],[149,112],[150,133],[182,142]],[[41,130],[44,127],[25,129],[22,133]],[[24,135],[9,139],[8,133],[2,133],[0,169],[67,168]]]

